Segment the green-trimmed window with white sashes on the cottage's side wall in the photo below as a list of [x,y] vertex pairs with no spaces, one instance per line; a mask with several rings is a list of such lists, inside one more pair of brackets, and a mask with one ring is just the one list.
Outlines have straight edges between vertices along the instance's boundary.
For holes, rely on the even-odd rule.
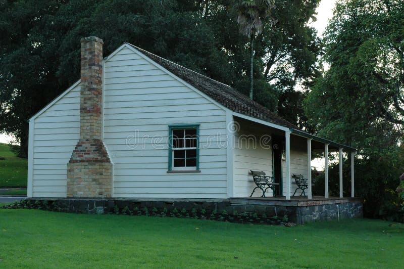
[[198,170],[199,125],[169,125],[169,170]]

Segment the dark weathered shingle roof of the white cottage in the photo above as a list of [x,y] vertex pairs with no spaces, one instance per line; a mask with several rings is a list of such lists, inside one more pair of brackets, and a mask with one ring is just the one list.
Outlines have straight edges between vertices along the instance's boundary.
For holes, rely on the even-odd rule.
[[130,43],[128,44],[143,53],[151,60],[166,68],[174,75],[194,86],[199,91],[219,102],[226,108],[246,116],[269,121],[284,127],[298,129],[292,123],[288,122],[287,120],[283,119],[279,115],[268,110],[257,102],[250,100],[248,97],[237,92],[236,89],[230,87],[229,85],[223,84],[212,78],[196,73],[192,70],[189,70],[188,68],[149,53],[136,46],[133,46]]

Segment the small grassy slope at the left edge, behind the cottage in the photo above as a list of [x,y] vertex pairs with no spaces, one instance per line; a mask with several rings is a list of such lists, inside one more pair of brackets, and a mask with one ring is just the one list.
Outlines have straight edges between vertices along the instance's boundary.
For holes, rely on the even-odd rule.
[[0,143],[0,187],[27,187],[27,159],[10,151],[9,145]]

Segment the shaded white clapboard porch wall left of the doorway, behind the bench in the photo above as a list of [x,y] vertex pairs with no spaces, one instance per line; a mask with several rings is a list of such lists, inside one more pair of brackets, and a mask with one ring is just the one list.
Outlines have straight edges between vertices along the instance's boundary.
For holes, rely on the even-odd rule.
[[[252,180],[250,170],[264,171],[272,176],[272,150],[270,147],[260,145],[260,138],[265,133],[249,124],[240,124],[240,129],[235,133],[233,149],[234,169],[234,197],[248,197],[257,187]],[[251,136],[252,135],[252,136]],[[257,189],[254,197],[262,195]],[[271,190],[266,196],[271,196]]]

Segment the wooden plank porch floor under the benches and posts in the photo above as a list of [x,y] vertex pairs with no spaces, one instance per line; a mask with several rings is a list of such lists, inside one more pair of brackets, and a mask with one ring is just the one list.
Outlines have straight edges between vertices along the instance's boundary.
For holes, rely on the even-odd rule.
[[308,199],[307,196],[292,196],[290,200],[286,200],[285,196],[273,197],[241,197],[230,198],[232,205],[275,205],[275,206],[312,206],[312,205],[327,205],[341,204],[350,202],[361,202],[360,198],[351,197],[329,197],[313,196],[313,199]]

